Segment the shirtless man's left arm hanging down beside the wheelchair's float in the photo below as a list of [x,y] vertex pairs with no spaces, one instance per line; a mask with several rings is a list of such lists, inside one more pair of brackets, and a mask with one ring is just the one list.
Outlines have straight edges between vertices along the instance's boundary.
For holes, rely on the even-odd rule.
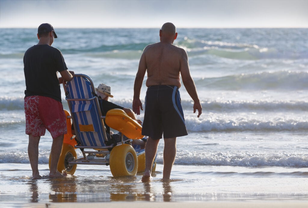
[[137,115],[140,115],[140,109],[143,110],[142,102],[140,100],[140,92],[141,92],[141,87],[142,87],[142,83],[143,83],[146,70],[147,70],[147,64],[146,64],[145,55],[143,52],[141,55],[140,61],[139,61],[139,67],[138,67],[138,71],[137,71],[136,79],[134,83],[134,97],[133,97],[132,108],[133,108],[134,113]]

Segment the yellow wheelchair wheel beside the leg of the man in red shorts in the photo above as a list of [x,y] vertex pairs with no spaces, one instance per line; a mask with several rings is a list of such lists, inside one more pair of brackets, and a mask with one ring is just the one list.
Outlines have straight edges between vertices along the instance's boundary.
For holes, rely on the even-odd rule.
[[[77,165],[69,165],[68,161],[73,160],[77,157],[75,148],[72,147],[70,144],[63,143],[62,152],[59,158],[58,163],[58,171],[62,173],[63,171],[69,175],[74,175]],[[51,155],[49,156],[49,168],[51,163]]]

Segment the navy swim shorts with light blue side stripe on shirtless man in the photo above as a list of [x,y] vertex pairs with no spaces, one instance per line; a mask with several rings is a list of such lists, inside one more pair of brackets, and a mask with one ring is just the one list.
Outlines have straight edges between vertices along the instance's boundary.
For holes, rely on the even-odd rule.
[[187,135],[179,88],[173,85],[148,87],[142,135],[152,139]]

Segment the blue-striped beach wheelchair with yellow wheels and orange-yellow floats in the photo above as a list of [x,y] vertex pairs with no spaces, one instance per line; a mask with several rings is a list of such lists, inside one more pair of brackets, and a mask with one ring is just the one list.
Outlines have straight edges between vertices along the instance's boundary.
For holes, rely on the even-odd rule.
[[[63,83],[67,110],[67,134],[64,135],[58,171],[73,175],[77,164],[109,165],[114,177],[136,175],[145,169],[145,151],[139,145],[132,147],[133,139],[141,139],[141,125],[121,109],[109,110],[102,116],[95,87],[90,77],[76,74],[74,78]],[[71,122],[72,121],[72,122]],[[104,122],[121,132],[120,142],[114,143],[107,137]],[[72,124],[71,124],[72,123]],[[75,135],[71,125],[74,125]],[[129,140],[124,141],[124,136]],[[80,149],[82,157],[77,158],[75,149]],[[157,154],[156,154],[157,156]],[[49,167],[51,156],[49,157]],[[156,159],[152,171],[155,171]]]

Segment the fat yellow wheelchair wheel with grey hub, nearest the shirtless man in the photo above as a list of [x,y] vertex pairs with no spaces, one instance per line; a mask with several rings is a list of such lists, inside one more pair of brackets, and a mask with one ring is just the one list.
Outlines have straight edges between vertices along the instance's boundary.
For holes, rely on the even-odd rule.
[[121,144],[112,148],[109,165],[114,177],[136,175],[138,160],[134,148],[129,144]]

